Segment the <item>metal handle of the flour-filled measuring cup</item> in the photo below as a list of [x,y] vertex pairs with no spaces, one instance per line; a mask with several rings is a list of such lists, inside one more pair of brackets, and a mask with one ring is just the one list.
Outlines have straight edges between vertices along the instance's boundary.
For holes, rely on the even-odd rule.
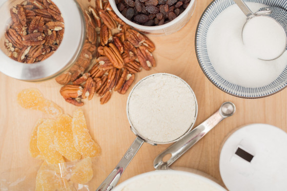
[[135,154],[139,150],[140,146],[142,143],[145,141],[141,139],[140,137],[137,137],[124,157],[119,161],[115,169],[110,173],[110,175],[104,180],[103,183],[96,189],[96,191],[106,191],[106,190],[111,190],[113,189],[116,184],[118,183],[121,174],[124,173],[125,169],[131,162],[131,160],[134,158]]

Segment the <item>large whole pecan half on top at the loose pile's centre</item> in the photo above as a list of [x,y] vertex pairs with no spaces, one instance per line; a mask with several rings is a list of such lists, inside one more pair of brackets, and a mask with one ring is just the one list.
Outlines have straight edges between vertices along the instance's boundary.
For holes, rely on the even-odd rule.
[[109,47],[104,47],[105,56],[113,63],[114,67],[121,69],[124,67],[124,59],[122,59],[119,51],[113,44],[109,44]]

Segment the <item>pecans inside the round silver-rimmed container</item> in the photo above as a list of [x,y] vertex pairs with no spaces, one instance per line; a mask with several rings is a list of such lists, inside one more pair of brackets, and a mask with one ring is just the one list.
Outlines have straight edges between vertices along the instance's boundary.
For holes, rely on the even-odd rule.
[[4,46],[12,59],[34,63],[57,50],[63,39],[64,23],[53,2],[26,0],[12,7],[10,14]]

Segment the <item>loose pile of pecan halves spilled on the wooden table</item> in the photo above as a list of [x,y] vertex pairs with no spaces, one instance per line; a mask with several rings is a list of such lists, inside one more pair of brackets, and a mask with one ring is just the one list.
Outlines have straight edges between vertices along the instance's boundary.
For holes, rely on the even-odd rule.
[[96,8],[90,6],[84,14],[87,39],[83,51],[73,67],[56,78],[65,85],[61,95],[77,106],[84,105],[81,99],[90,100],[94,94],[101,97],[101,104],[113,91],[125,94],[135,73],[155,67],[152,41],[125,24],[108,1],[96,0]]

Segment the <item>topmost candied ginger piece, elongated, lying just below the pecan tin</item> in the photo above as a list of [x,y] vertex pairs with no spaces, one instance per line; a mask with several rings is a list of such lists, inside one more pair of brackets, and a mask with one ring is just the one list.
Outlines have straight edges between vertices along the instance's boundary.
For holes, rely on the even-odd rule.
[[62,110],[54,102],[47,100],[37,89],[25,89],[17,95],[17,102],[25,109],[38,110],[57,117]]

